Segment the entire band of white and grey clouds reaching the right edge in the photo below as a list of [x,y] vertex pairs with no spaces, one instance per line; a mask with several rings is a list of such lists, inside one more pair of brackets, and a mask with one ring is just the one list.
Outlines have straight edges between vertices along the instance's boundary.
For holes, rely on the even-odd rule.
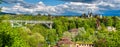
[[[23,0],[21,0],[23,1]],[[99,2],[98,2],[99,1]],[[21,4],[17,3],[12,7],[3,7],[2,12],[17,13],[17,14],[53,14],[59,15],[66,13],[66,11],[75,13],[86,13],[92,11],[93,13],[101,13],[100,10],[120,10],[120,0],[98,0],[97,3],[82,3],[82,2],[67,2],[56,6],[47,6],[43,2],[38,4]]]

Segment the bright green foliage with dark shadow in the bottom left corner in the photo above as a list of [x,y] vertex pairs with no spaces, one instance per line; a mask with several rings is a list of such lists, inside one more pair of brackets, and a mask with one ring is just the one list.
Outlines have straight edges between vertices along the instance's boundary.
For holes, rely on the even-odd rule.
[[10,27],[9,23],[0,23],[0,44],[2,47],[29,47],[20,37],[17,29]]

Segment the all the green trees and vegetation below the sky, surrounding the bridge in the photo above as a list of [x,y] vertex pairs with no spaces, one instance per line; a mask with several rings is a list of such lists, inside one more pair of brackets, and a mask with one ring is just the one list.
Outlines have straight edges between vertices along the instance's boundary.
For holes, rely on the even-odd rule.
[[[43,15],[1,15],[0,16],[0,47],[48,47],[54,46],[62,37],[69,37],[73,42],[94,44],[95,47],[120,46],[120,17],[64,17]],[[43,24],[27,24],[13,28],[3,20],[51,20],[53,28]],[[114,27],[115,30],[108,30]],[[78,29],[77,35],[69,32]]]

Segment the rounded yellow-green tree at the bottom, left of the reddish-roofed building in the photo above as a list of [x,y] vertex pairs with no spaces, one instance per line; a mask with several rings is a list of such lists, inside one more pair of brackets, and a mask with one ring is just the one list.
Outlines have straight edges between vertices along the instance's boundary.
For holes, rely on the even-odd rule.
[[28,39],[31,47],[41,47],[44,41],[45,39],[40,33],[33,33]]

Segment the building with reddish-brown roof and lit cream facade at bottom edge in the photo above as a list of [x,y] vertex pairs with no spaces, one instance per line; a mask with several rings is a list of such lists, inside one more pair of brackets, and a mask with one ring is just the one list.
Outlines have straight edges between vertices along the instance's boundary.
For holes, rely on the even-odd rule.
[[53,47],[94,47],[92,42],[72,42],[68,37],[60,39],[56,46]]

